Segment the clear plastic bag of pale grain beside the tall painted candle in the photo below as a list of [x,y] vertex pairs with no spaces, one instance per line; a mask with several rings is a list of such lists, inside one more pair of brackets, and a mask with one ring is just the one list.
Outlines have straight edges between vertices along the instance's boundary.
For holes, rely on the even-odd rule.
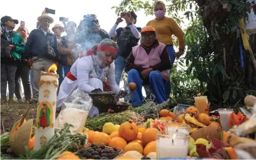
[[85,92],[76,89],[62,105],[62,111],[60,111],[56,119],[56,128],[64,127],[65,122],[73,124],[73,128],[70,128],[72,132],[83,132],[85,122],[88,117],[89,110],[93,105],[93,100]]

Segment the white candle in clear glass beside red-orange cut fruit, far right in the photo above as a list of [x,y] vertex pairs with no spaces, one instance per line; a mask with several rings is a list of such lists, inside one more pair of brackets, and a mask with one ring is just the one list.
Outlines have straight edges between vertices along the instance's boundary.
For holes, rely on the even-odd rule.
[[220,114],[220,125],[223,130],[229,130],[229,118],[233,109],[218,109],[218,113]]

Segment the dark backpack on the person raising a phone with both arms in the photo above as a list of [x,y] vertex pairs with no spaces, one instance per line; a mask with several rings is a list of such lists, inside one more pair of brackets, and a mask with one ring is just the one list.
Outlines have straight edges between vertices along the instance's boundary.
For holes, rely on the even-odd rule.
[[118,55],[126,58],[131,53],[131,48],[138,44],[130,28],[124,28],[118,37]]

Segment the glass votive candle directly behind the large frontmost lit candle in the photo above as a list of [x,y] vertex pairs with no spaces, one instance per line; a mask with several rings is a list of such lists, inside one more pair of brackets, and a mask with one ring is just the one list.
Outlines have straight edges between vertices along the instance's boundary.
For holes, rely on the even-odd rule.
[[180,132],[189,135],[190,126],[188,124],[167,122],[165,124],[165,130],[166,132]]

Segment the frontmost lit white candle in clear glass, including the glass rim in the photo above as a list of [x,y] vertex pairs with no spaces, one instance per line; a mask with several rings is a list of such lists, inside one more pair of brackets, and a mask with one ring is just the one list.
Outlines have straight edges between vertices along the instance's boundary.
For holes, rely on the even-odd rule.
[[189,135],[181,132],[157,132],[157,159],[186,158],[188,154]]

